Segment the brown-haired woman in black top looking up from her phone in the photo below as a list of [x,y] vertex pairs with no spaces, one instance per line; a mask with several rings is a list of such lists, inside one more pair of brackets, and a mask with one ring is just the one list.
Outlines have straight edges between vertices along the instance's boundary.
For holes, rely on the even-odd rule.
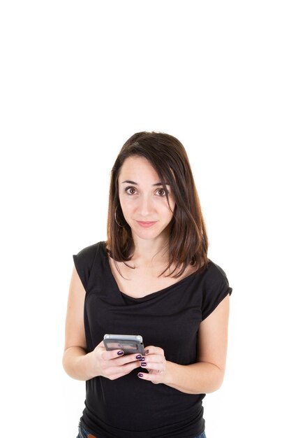
[[[73,255],[63,362],[86,381],[78,437],[206,437],[232,292],[207,248],[184,146],[134,134],[112,169],[107,241]],[[145,354],[107,351],[108,333],[141,335]]]

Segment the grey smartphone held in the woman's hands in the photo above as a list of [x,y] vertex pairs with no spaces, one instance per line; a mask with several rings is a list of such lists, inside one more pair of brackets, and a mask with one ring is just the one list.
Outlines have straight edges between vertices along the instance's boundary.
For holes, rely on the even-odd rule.
[[105,334],[103,339],[106,350],[124,351],[124,354],[140,353],[144,355],[144,344],[140,334]]

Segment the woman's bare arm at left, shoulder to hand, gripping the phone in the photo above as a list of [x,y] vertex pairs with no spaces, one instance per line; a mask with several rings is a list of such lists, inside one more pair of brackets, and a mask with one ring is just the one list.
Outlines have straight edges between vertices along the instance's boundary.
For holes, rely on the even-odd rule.
[[122,355],[117,350],[106,351],[103,342],[100,342],[94,351],[87,353],[84,330],[85,295],[86,291],[74,266],[68,293],[63,355],[66,373],[77,380],[89,380],[96,376],[113,380],[140,367],[135,355]]

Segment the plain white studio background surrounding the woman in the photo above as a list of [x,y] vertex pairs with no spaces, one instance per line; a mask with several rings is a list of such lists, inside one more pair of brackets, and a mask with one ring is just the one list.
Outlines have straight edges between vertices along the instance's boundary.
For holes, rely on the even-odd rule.
[[72,255],[106,239],[110,170],[141,130],[184,144],[233,288],[207,438],[288,436],[288,3],[1,2],[1,437],[77,435]]

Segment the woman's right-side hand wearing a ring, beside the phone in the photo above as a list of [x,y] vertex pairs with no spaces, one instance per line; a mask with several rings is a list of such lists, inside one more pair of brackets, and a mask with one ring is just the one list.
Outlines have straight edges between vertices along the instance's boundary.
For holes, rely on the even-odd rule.
[[147,369],[149,373],[139,372],[137,376],[139,376],[140,379],[149,380],[152,383],[164,383],[167,361],[163,348],[151,345],[144,348],[144,351],[145,360],[140,363],[140,366]]

